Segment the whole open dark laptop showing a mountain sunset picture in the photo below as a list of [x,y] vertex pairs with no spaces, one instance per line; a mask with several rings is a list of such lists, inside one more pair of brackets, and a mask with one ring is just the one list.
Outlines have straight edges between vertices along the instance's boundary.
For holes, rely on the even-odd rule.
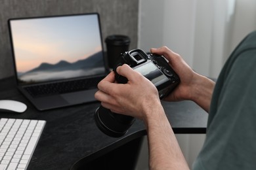
[[17,87],[38,110],[96,101],[109,73],[97,13],[8,22]]

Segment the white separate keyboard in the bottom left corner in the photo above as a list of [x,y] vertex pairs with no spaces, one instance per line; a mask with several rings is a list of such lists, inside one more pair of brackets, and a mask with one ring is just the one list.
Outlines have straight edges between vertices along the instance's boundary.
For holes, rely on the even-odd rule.
[[0,170],[27,169],[45,120],[1,118]]

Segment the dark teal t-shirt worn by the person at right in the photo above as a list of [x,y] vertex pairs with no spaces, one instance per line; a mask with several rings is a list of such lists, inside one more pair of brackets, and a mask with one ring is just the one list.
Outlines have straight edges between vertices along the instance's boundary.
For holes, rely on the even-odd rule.
[[232,52],[217,79],[193,169],[256,169],[256,32]]

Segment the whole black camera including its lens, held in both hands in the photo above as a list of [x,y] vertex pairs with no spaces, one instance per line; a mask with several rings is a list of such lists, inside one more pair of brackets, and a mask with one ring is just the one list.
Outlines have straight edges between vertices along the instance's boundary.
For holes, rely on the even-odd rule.
[[[120,61],[114,68],[127,64],[148,78],[158,89],[162,99],[171,93],[179,84],[180,78],[168,64],[167,59],[156,54],[146,54],[143,50],[135,49],[120,54]],[[116,73],[117,83],[126,84],[127,78]],[[98,128],[110,137],[121,137],[127,133],[135,118],[112,112],[102,106],[95,111],[95,123]]]

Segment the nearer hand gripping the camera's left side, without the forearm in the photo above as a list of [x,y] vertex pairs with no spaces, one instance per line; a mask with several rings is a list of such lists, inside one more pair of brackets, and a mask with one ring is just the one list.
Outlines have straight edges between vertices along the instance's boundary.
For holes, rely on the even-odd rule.
[[117,73],[128,79],[127,84],[117,84],[112,72],[99,82],[95,98],[112,112],[144,120],[145,110],[160,104],[158,90],[150,80],[126,64],[117,67]]

